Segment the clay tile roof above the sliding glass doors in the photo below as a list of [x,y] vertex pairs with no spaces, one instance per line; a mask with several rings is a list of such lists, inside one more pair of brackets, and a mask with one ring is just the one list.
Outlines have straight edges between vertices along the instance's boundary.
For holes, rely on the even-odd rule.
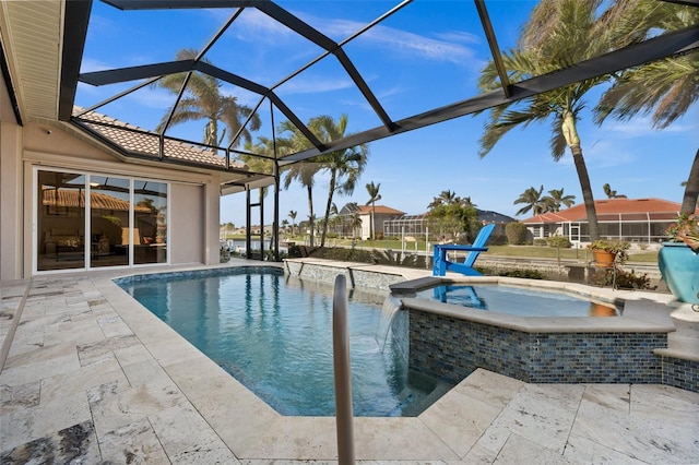
[[[82,108],[74,107],[73,116],[78,116],[82,111],[84,111]],[[119,121],[96,111],[88,111],[84,115],[80,115],[79,120],[84,126],[110,140],[127,152],[139,155],[150,155],[154,158],[157,158],[158,156],[158,135],[151,131]],[[215,167],[224,167],[226,164],[223,156],[217,155],[210,148],[197,147],[168,138],[165,138],[165,155],[169,158],[212,165]],[[246,168],[245,164],[235,160],[232,160],[232,166],[240,169]]]

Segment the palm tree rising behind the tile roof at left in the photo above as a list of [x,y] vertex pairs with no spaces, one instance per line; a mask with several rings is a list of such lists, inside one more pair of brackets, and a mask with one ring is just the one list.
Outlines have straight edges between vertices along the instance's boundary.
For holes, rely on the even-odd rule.
[[[191,60],[199,56],[194,49],[178,50],[176,60]],[[206,60],[203,60],[206,61]],[[157,81],[156,85],[168,90],[173,94],[179,94],[188,73],[168,74]],[[178,124],[187,121],[205,120],[204,134],[202,142],[208,145],[217,146],[222,143],[226,129],[228,130],[228,141],[233,142],[235,134],[240,131],[242,123],[251,116],[250,122],[240,132],[241,138],[250,142],[250,131],[260,129],[260,117],[253,114],[252,109],[245,105],[238,104],[237,97],[232,95],[222,95],[221,81],[200,72],[192,72],[187,84],[186,93],[179,100],[179,104],[173,112],[171,124]],[[162,131],[167,123],[168,115],[171,108],[161,120],[157,131]],[[223,122],[226,127],[218,136],[218,123]],[[239,144],[239,140],[235,141],[235,146]]]

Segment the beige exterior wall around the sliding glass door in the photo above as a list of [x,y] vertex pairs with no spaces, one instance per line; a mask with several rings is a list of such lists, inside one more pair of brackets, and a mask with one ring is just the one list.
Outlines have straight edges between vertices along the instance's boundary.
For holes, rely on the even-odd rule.
[[1,279],[33,274],[33,182],[38,166],[168,182],[170,263],[218,263],[218,175],[125,163],[70,130],[35,122],[19,127],[5,120],[0,121]]

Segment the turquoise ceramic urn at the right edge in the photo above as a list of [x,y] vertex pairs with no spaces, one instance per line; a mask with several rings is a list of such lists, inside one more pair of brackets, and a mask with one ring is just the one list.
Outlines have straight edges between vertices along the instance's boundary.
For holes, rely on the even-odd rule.
[[684,242],[663,242],[657,265],[677,300],[699,303],[699,253]]

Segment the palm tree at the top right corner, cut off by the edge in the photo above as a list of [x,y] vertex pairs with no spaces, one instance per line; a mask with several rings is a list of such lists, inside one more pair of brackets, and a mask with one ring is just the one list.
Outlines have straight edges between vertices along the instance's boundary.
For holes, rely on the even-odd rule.
[[[617,0],[614,8],[624,8]],[[628,31],[643,37],[657,31],[677,31],[699,22],[696,7],[670,2],[635,0]],[[638,115],[651,114],[653,128],[665,129],[699,98],[699,51],[668,57],[660,61],[623,71],[595,107],[595,122],[601,124],[612,116],[627,121]],[[692,213],[699,200],[699,150],[685,184],[680,212]]]

